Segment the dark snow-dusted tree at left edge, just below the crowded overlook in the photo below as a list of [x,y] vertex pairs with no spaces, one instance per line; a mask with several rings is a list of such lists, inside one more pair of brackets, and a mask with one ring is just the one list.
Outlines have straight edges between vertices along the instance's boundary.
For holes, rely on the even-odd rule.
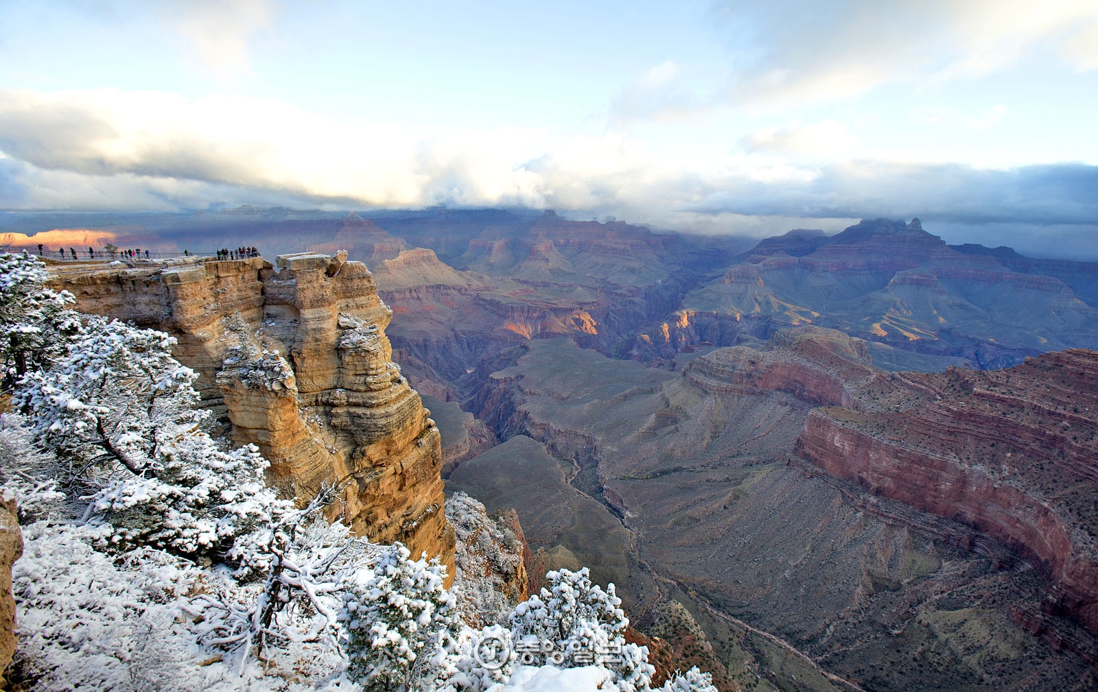
[[0,254],[0,388],[9,389],[26,372],[43,367],[64,352],[79,328],[68,310],[72,294],[44,286],[46,265],[25,251]]

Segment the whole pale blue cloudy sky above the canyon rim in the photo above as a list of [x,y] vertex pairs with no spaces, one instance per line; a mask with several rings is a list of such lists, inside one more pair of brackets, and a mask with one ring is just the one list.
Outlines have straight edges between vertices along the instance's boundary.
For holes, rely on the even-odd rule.
[[919,216],[1098,259],[1098,3],[0,0],[0,208]]

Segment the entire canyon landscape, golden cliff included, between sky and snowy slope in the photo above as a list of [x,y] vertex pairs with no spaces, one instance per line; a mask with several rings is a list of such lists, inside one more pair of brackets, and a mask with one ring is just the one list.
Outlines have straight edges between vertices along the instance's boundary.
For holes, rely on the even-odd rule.
[[[587,566],[722,690],[1098,684],[1098,263],[919,219],[77,218],[5,242],[78,249],[53,287],[177,337],[270,479],[335,468],[371,537],[452,564],[445,478],[514,512],[524,593]],[[163,259],[87,257],[108,242]],[[285,257],[203,259],[239,246]],[[233,367],[265,350],[282,388]]]

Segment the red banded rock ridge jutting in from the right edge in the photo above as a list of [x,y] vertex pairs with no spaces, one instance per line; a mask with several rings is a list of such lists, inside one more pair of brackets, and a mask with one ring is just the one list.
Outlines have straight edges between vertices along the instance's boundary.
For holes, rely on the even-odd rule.
[[1007,544],[1052,613],[1098,631],[1098,353],[876,378],[861,400],[811,411],[795,454]]

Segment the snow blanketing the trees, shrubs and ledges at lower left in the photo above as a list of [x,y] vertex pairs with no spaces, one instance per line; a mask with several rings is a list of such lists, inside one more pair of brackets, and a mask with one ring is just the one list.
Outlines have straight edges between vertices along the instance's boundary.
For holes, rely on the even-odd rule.
[[[27,337],[0,340],[21,411],[0,417],[0,496],[24,535],[12,571],[21,689],[649,689],[614,585],[562,569],[514,604],[500,575],[517,569],[520,545],[456,496],[461,574],[448,591],[437,560],[329,524],[335,488],[298,509],[266,487],[255,446],[211,438],[175,339],[78,316],[44,279],[34,258],[0,256],[0,328]],[[382,348],[346,324],[345,348]],[[240,348],[222,375],[293,387],[273,351]],[[526,644],[559,657],[524,665],[514,649]],[[587,665],[584,651],[613,656]],[[663,690],[714,692],[697,671]]]

